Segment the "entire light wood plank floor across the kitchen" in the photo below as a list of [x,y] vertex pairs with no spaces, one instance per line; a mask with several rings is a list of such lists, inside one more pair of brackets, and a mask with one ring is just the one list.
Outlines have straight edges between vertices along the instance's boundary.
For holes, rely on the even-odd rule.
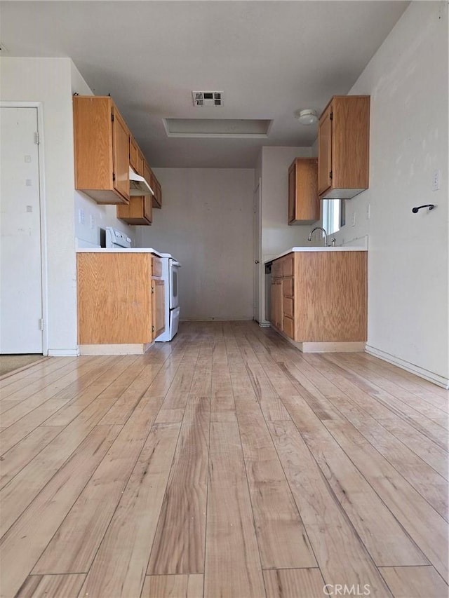
[[0,390],[1,597],[448,596],[448,392],[413,374],[189,322]]

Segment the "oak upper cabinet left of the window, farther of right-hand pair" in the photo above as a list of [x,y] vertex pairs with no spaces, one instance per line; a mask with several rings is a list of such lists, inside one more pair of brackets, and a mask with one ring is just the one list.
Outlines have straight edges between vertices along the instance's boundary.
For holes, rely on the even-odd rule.
[[288,224],[316,222],[319,217],[318,161],[295,158],[288,169]]

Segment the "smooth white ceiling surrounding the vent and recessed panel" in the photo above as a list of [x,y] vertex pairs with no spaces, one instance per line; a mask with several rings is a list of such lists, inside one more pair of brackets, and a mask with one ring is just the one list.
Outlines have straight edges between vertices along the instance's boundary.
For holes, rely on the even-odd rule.
[[[262,145],[306,146],[408,6],[403,1],[6,1],[9,56],[70,57],[114,98],[153,167],[254,168]],[[194,107],[192,90],[224,92]],[[272,120],[267,138],[168,137],[164,118]]]

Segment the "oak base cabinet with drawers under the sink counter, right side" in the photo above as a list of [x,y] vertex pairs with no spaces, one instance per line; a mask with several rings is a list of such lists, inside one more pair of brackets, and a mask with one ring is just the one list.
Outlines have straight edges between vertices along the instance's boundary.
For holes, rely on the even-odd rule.
[[363,342],[363,251],[292,252],[272,264],[272,325],[299,343]]

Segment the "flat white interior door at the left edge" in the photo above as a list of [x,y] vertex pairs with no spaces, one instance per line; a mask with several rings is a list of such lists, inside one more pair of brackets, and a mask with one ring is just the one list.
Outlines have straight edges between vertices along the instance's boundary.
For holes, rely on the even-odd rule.
[[37,108],[0,108],[0,353],[42,353]]

